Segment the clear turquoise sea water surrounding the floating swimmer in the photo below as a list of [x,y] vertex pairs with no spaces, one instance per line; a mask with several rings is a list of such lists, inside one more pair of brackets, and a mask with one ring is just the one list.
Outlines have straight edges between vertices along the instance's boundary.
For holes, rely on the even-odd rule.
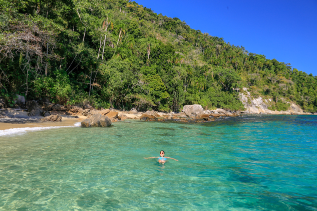
[[317,210],[316,163],[317,116],[30,131],[0,137],[0,210]]

